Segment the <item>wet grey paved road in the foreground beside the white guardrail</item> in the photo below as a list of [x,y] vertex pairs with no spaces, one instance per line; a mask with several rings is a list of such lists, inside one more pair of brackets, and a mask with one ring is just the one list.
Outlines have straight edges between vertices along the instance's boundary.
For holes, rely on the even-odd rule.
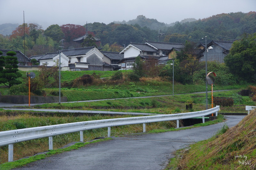
[[226,116],[227,121],[193,129],[157,134],[112,137],[78,150],[53,155],[17,168],[20,170],[141,170],[164,169],[173,152],[212,137],[226,123],[236,125],[244,116]]

